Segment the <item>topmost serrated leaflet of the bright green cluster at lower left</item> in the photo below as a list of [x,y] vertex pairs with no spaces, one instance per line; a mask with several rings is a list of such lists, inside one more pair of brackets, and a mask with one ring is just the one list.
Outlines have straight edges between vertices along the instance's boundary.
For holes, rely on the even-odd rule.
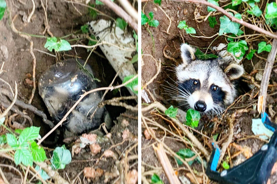
[[18,138],[19,144],[22,145],[22,143],[24,142],[35,140],[36,138],[38,138],[39,130],[40,127],[34,126],[25,128]]

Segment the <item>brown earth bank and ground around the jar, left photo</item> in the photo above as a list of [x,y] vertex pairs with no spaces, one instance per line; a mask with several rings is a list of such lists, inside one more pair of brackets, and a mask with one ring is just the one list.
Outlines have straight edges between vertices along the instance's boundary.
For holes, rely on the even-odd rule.
[[[45,1],[43,1],[45,3]],[[65,35],[68,35],[70,33],[74,33],[77,30],[80,30],[80,27],[87,22],[93,20],[91,16],[89,15],[88,8],[84,6],[80,6],[75,4],[73,6],[71,4],[71,1],[46,1],[47,2],[47,17],[48,22],[50,25],[50,31],[53,33],[56,37],[62,37]],[[29,12],[31,12],[33,4],[31,1],[7,1],[7,9],[8,11],[5,12],[5,15],[3,19],[0,21],[0,65],[2,65],[3,61],[5,62],[3,70],[3,74],[1,74],[1,78],[3,80],[6,80],[12,88],[14,89],[15,81],[18,84],[18,99],[24,101],[25,103],[28,103],[28,100],[32,93],[32,83],[31,85],[26,82],[27,75],[32,75],[32,68],[33,68],[33,59],[30,54],[30,43],[27,39],[24,39],[20,37],[18,34],[14,33],[13,30],[10,27],[10,21],[13,21],[15,28],[23,33],[33,34],[33,35],[44,35],[48,36],[47,33],[43,34],[43,31],[45,30],[45,14],[44,10],[41,6],[41,3],[39,0],[35,0],[36,9],[35,12],[31,18],[30,23],[27,23],[26,16],[28,17]],[[45,5],[44,5],[45,6]],[[136,5],[137,6],[137,5]],[[80,12],[77,12],[77,10]],[[97,9],[101,10],[105,14],[117,18],[117,15],[115,15],[110,9],[108,9],[106,6],[96,6]],[[10,14],[8,14],[10,13]],[[105,19],[105,16],[98,16],[96,19]],[[67,37],[66,39],[73,39],[75,37]],[[41,37],[31,37],[34,45],[34,49],[43,50],[44,52],[49,51],[44,48],[44,44],[46,42],[46,38]],[[79,43],[87,44],[87,40],[84,39]],[[71,41],[70,44],[75,44],[76,41]],[[2,51],[2,48],[7,48],[8,53],[4,53]],[[102,51],[97,48],[96,51],[103,55]],[[44,111],[47,114],[47,118],[52,120],[49,116],[49,113],[47,112],[47,109],[45,107],[45,104],[38,94],[38,79],[40,75],[47,70],[52,64],[56,62],[55,57],[52,57],[50,55],[46,55],[45,53],[38,52],[34,50],[34,54],[36,57],[36,92],[32,101],[32,105],[39,110]],[[54,54],[55,53],[51,53]],[[72,58],[75,56],[81,57],[83,60],[86,60],[89,52],[87,52],[87,49],[84,48],[76,48],[72,49],[67,52],[61,52],[61,60]],[[7,56],[7,57],[6,57]],[[109,64],[109,62],[106,59],[103,59],[102,57],[92,54],[91,57],[88,60],[88,64],[93,68],[93,70],[96,72],[96,78],[101,80],[101,85],[108,86],[110,82],[112,82],[115,71],[113,70],[112,66]],[[27,74],[27,75],[26,75]],[[32,80],[32,78],[30,78]],[[114,84],[120,84],[121,81],[119,78],[116,79]],[[3,85],[1,83],[0,85]],[[114,90],[112,92],[108,92],[106,95],[106,99],[110,99],[114,96],[119,95],[129,95],[128,91],[126,89],[121,89],[120,91]],[[133,102],[131,105],[136,104]],[[0,102],[1,107],[1,102]],[[132,138],[130,138],[128,141],[125,141],[123,144],[117,146],[118,151],[124,152],[130,147],[132,147],[137,142],[137,114],[132,113],[130,111],[125,111],[124,108],[120,107],[107,107],[108,111],[112,111],[112,116],[114,117],[114,127],[111,129],[112,137],[111,140],[114,142],[114,144],[118,144],[123,141],[122,139],[122,131],[125,129],[128,129],[130,133],[133,135]],[[31,117],[33,120],[33,125],[40,128],[40,135],[45,135],[49,130],[50,127],[45,125],[42,121],[42,119],[38,116],[36,116],[31,111],[26,111],[28,116]],[[121,114],[121,115],[120,115]],[[120,116],[119,116],[120,115]],[[121,121],[123,119],[126,119],[130,124],[128,127],[122,127]],[[102,131],[103,134],[103,131]],[[105,133],[104,133],[105,134]],[[54,134],[50,136],[53,138],[55,136]],[[58,142],[58,145],[60,146],[63,142]],[[49,147],[56,147],[58,145],[47,145]],[[111,147],[111,142],[107,141],[100,146],[102,147],[102,150],[99,154],[96,156],[91,156],[89,147],[86,147],[82,150],[80,154],[75,155],[72,158],[72,162],[66,166],[65,169],[60,171],[60,174],[63,178],[66,180],[70,179],[70,181],[77,176],[79,172],[82,172],[84,167],[93,166],[95,168],[101,168],[105,172],[112,172],[114,168],[116,168],[115,159],[108,158],[107,160],[101,159],[99,160],[101,154],[103,154],[103,151]],[[68,145],[68,149],[70,149]],[[111,149],[112,151],[115,151],[114,148]],[[130,154],[137,154],[137,147],[133,149]],[[50,158],[52,155],[52,152],[47,153],[47,157]],[[125,157],[125,155],[120,157],[120,160],[122,160]],[[124,159],[123,159],[124,160]],[[2,160],[0,163],[5,163],[8,165],[14,165],[13,160]],[[129,169],[136,169],[137,170],[137,160],[130,160],[128,162],[128,165],[131,166]],[[19,167],[18,167],[19,168]],[[14,173],[13,170],[4,169],[5,175],[7,176],[7,179],[11,181],[11,183],[20,183],[21,180],[17,179],[19,178],[19,175]],[[29,178],[29,176],[28,176]],[[31,178],[31,176],[30,176]],[[80,181],[83,181],[83,174],[79,176]],[[115,180],[116,178],[113,178]],[[98,178],[97,181],[90,181],[88,182],[87,179],[84,179],[86,183],[104,183],[104,175],[101,178]],[[78,182],[77,182],[78,183]],[[83,183],[83,182],[82,182]]]

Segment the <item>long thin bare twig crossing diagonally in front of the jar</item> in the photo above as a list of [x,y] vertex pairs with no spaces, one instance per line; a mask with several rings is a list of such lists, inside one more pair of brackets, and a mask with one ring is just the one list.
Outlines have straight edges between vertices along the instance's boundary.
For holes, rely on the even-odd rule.
[[68,110],[68,112],[63,116],[63,118],[59,121],[59,123],[53,127],[47,134],[45,134],[45,136],[43,136],[43,138],[41,138],[39,141],[38,141],[38,145],[41,144],[41,142],[47,138],[55,129],[57,129],[59,126],[61,126],[61,124],[66,120],[67,116],[71,113],[71,111],[73,111],[73,109],[77,106],[77,104],[79,104],[80,101],[82,101],[82,99],[90,94],[90,93],[93,93],[93,92],[96,92],[96,91],[101,91],[101,90],[113,90],[113,89],[118,89],[118,88],[121,88],[122,86],[125,86],[126,84],[132,82],[138,75],[135,75],[133,78],[131,78],[130,80],[128,80],[127,82],[123,83],[123,84],[120,84],[118,86],[114,86],[114,87],[102,87],[102,88],[96,88],[96,89],[92,89],[90,91],[87,91],[87,92],[84,92],[84,94],[80,95],[80,98],[77,100],[77,102],[75,102],[75,104]]

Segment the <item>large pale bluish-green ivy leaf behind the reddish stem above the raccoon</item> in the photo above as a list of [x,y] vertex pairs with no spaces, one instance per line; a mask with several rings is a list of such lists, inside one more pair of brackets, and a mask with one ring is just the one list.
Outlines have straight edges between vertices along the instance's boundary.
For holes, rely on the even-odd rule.
[[[229,12],[231,15],[233,15],[231,12]],[[234,17],[241,19],[241,15],[238,13]],[[240,24],[232,22],[228,17],[225,15],[219,18],[220,20],[220,28],[219,28],[219,35],[227,34],[227,33],[233,33],[235,35],[239,32],[239,26]]]

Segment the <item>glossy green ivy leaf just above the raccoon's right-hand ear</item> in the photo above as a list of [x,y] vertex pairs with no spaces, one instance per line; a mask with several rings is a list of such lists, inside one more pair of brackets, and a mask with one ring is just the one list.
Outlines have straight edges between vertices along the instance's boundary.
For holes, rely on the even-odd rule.
[[244,40],[227,44],[227,51],[233,53],[237,59],[242,59],[246,50],[248,50],[248,46]]

